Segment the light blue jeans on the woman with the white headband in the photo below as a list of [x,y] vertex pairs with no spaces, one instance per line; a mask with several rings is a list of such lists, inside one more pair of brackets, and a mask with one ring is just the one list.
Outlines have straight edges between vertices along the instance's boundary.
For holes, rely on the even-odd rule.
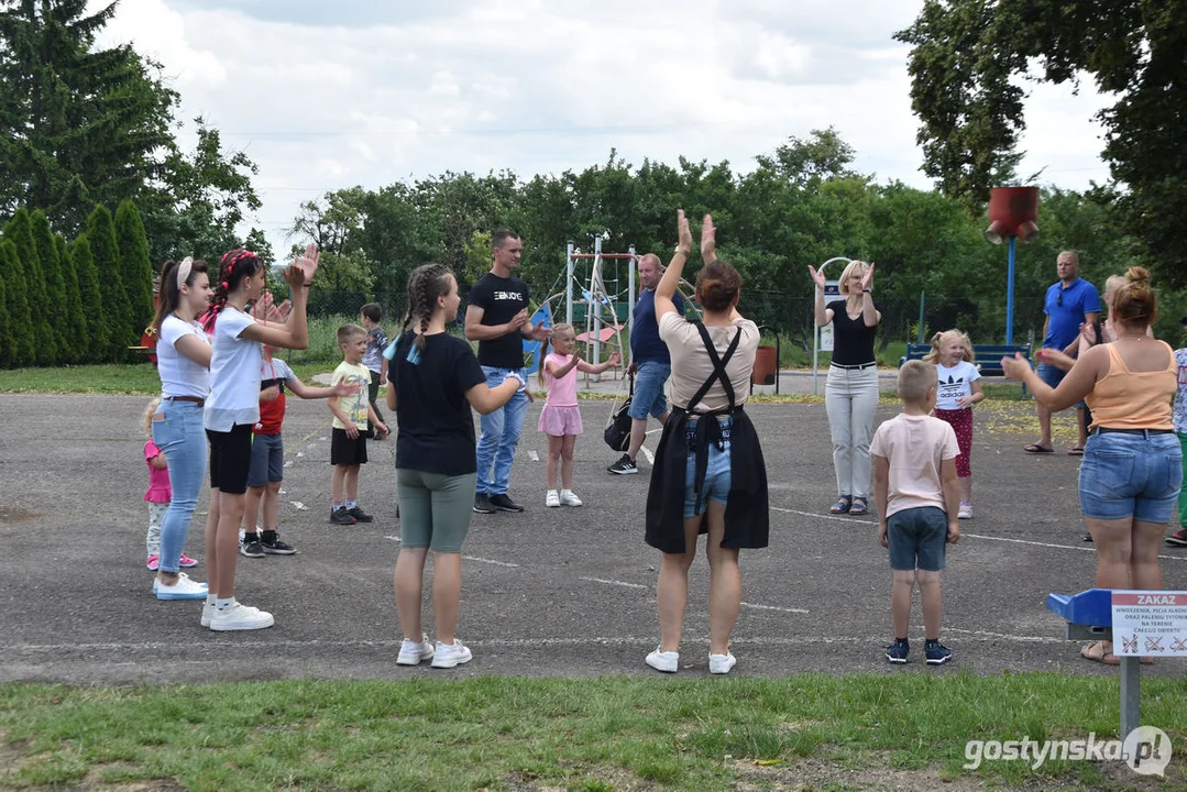
[[161,401],[157,414],[165,419],[152,422],[152,442],[165,454],[173,490],[160,526],[160,571],[177,572],[207,475],[207,432],[202,406],[193,401]]

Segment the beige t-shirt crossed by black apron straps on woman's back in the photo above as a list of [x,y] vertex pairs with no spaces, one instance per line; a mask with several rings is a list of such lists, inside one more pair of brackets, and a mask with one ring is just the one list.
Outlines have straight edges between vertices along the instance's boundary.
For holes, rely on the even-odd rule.
[[[705,328],[709,330],[709,338],[717,349],[717,356],[725,354],[730,342],[738,329],[742,337],[738,340],[738,348],[725,363],[725,373],[734,386],[735,406],[745,404],[750,394],[750,374],[754,372],[754,355],[758,349],[758,327],[750,319],[735,319],[734,324],[724,328]],[[688,401],[697,395],[697,391],[713,374],[713,362],[709,359],[709,350],[700,338],[697,325],[686,322],[679,313],[665,313],[660,317],[660,338],[668,346],[672,355],[672,404],[687,408]],[[723,410],[730,406],[730,400],[725,398],[725,388],[719,380],[713,380],[712,387],[704,398],[693,406],[694,412],[710,412]]]

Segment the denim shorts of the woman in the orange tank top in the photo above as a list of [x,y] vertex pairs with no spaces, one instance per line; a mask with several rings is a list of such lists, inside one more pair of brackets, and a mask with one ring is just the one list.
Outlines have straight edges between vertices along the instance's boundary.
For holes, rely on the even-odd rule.
[[1080,463],[1080,511],[1096,520],[1169,522],[1183,480],[1173,432],[1092,432]]

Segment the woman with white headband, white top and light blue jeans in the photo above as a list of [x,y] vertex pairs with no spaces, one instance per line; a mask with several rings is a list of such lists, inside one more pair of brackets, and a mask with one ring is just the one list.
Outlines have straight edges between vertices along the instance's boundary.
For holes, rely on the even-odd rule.
[[152,414],[152,442],[164,452],[172,500],[160,524],[160,555],[152,590],[158,600],[203,600],[207,584],[180,571],[182,550],[198,505],[207,468],[202,407],[210,392],[210,343],[195,321],[210,302],[207,262],[166,261],[160,303],[152,327],[158,331],[157,372],[160,404]]

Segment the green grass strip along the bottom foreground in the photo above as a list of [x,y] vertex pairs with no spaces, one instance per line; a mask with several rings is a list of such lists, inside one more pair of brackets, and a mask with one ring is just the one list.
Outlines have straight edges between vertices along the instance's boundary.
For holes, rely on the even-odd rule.
[[967,740],[1112,739],[1116,677],[1048,673],[185,688],[0,686],[0,787],[357,790],[1183,788],[1187,682],[1148,679],[1167,779],[986,761]]

